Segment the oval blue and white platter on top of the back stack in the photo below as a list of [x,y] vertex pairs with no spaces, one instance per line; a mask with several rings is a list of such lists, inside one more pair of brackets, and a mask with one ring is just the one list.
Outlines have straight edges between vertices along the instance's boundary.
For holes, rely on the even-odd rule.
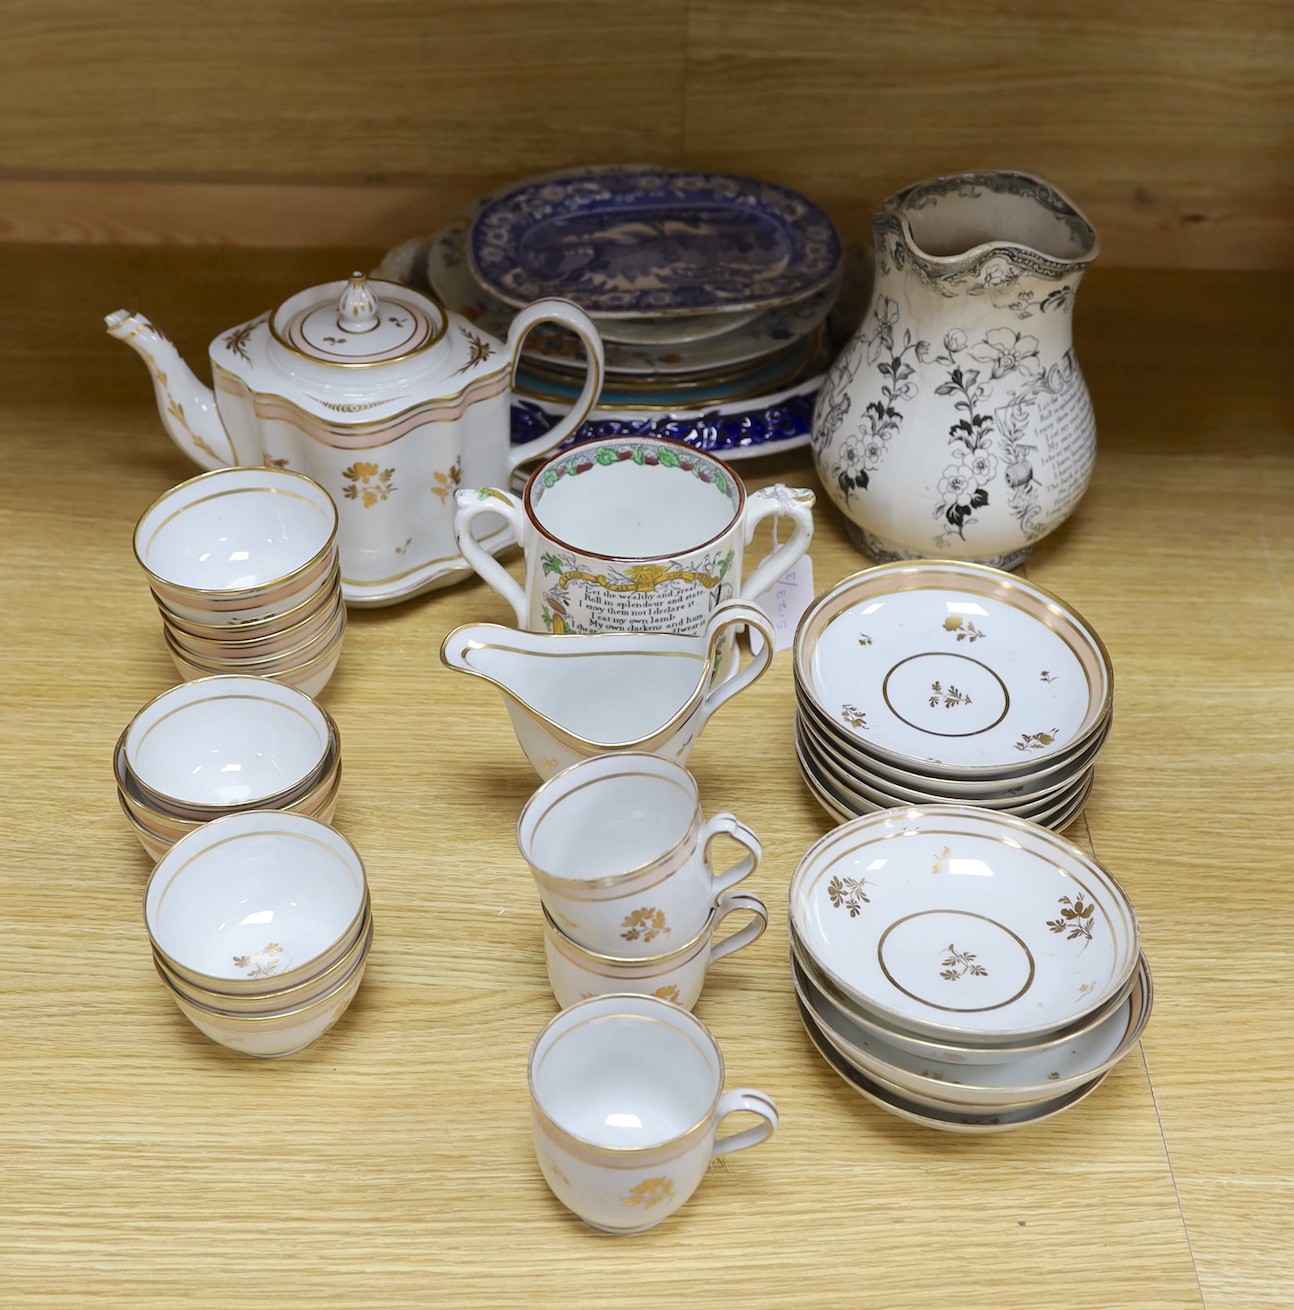
[[792,304],[841,267],[830,217],[787,187],[720,173],[584,173],[487,200],[468,233],[481,284],[511,305],[574,300],[659,318]]

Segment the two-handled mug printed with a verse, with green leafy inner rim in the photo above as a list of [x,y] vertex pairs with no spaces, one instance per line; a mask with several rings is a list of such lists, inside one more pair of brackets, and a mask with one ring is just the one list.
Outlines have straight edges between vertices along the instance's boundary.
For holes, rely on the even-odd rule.
[[[747,495],[711,455],[661,438],[617,436],[555,455],[520,499],[499,487],[457,493],[454,536],[473,569],[530,631],[698,633],[730,596],[758,597],[805,553],[813,493],[781,485]],[[473,536],[500,515],[525,553],[519,586]],[[791,533],[758,567],[743,550],[769,517]]]

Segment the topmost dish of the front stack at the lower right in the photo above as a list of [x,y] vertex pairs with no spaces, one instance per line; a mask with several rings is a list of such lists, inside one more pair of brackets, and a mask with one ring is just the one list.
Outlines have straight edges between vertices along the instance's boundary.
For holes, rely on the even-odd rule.
[[851,1009],[959,1044],[1077,1023],[1139,955],[1132,904],[1100,865],[972,806],[850,820],[805,852],[788,900],[798,942]]

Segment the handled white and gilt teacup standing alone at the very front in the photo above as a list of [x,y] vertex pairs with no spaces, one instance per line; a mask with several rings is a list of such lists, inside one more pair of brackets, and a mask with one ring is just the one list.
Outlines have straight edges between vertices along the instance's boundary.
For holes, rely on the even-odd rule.
[[[750,1087],[723,1090],[709,1028],[654,997],[605,996],[563,1010],[530,1049],[530,1120],[557,1199],[606,1233],[644,1233],[695,1191],[716,1155],[756,1146],[777,1106]],[[744,1111],[762,1123],[719,1137]]]

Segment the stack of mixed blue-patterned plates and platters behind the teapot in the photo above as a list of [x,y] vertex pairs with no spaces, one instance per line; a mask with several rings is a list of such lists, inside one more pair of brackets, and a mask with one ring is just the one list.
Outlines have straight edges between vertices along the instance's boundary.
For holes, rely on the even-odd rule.
[[[379,271],[499,338],[525,304],[575,301],[606,351],[601,400],[576,440],[669,436],[731,458],[808,439],[846,270],[830,219],[786,187],[601,168],[498,191]],[[582,368],[574,334],[540,325],[527,337],[515,441],[561,419]]]

